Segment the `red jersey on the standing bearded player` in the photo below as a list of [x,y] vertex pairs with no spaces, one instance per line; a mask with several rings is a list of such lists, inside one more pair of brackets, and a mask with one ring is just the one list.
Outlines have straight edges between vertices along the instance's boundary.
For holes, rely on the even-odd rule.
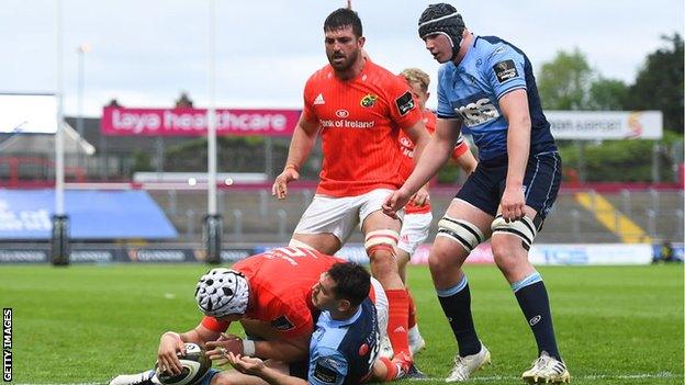
[[306,82],[303,116],[321,127],[318,194],[356,196],[402,185],[396,143],[422,116],[403,78],[367,60],[357,77],[340,80],[327,65]]

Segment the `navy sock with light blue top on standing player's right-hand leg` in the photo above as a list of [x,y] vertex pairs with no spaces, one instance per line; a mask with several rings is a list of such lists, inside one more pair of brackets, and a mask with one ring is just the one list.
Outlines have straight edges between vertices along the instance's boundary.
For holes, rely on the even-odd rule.
[[557,339],[554,338],[549,297],[540,274],[536,272],[521,281],[513,283],[512,290],[524,312],[528,326],[530,326],[535,335],[538,343],[538,355],[546,351],[549,355],[561,361]]

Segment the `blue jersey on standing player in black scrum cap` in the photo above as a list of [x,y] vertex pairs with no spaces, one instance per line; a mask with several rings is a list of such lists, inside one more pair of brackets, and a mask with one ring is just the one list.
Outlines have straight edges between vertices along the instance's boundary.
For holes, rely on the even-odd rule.
[[506,160],[508,123],[499,109],[499,99],[518,89],[528,93],[530,156],[557,150],[530,60],[496,36],[474,36],[458,66],[452,61],[440,66],[438,117],[462,120],[462,131],[473,136],[481,161]]

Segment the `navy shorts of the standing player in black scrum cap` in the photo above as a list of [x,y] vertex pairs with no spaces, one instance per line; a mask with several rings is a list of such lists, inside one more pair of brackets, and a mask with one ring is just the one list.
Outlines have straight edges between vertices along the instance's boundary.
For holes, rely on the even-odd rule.
[[[481,162],[457,193],[458,199],[469,202],[495,216],[504,194],[507,161]],[[538,212],[543,219],[557,200],[561,184],[561,157],[559,152],[540,152],[528,158],[524,175],[526,205]]]

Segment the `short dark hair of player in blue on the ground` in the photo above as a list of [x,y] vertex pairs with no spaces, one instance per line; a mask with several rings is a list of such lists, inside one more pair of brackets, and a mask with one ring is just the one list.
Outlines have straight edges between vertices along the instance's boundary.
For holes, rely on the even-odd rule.
[[338,299],[359,306],[369,296],[371,274],[357,263],[338,262],[328,269],[328,276],[336,283],[333,293]]

